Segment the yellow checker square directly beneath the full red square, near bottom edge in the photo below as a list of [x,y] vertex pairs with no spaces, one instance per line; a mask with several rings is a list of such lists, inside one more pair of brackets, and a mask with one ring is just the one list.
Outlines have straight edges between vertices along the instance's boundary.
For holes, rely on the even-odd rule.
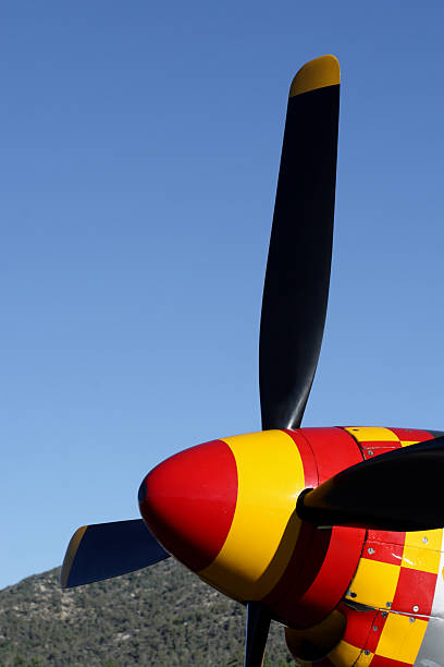
[[375,655],[412,665],[418,656],[428,621],[408,616],[390,614],[378,642]]

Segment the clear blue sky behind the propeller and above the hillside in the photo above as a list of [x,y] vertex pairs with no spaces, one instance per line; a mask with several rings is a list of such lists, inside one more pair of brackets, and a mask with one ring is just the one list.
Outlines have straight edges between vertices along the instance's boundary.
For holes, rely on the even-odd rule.
[[1,2],[0,586],[137,517],[162,458],[260,428],[288,85],[323,53],[336,227],[304,423],[444,428],[443,24],[437,1]]

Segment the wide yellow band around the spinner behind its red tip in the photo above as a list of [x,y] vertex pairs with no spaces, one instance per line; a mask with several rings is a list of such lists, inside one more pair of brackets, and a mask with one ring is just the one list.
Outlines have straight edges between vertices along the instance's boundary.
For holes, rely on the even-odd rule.
[[236,460],[237,504],[225,544],[199,575],[239,601],[261,599],[282,577],[297,542],[303,461],[283,430],[223,440]]

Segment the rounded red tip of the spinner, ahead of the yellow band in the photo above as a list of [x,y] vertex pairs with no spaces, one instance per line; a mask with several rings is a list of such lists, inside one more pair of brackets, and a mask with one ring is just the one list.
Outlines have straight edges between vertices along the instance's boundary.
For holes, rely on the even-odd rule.
[[221,550],[233,521],[237,469],[230,447],[213,440],[157,465],[139,489],[140,512],[164,548],[195,572]]

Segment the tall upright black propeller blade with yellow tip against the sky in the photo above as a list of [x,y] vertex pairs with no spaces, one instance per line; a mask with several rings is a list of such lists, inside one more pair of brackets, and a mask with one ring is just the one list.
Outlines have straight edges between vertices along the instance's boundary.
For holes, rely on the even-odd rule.
[[289,89],[259,341],[262,428],[297,428],[321,349],[336,182],[340,64],[305,64]]

